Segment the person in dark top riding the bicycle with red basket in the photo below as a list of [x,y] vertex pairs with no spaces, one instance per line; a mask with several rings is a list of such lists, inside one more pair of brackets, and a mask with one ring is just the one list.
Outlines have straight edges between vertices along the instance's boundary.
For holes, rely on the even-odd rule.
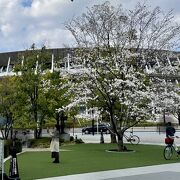
[[175,142],[174,142],[174,138],[179,138],[179,136],[175,136],[176,130],[175,128],[172,126],[171,122],[167,123],[167,127],[166,127],[166,137],[173,139],[173,145],[174,145],[174,149],[177,151],[178,154],[180,154],[180,151],[178,149],[178,147],[176,146]]

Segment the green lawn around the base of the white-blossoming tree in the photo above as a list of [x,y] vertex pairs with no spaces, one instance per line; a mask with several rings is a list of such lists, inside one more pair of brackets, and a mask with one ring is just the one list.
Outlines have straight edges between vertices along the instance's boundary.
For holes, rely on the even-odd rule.
[[[62,176],[94,171],[123,169],[165,163],[180,162],[180,158],[164,160],[163,146],[127,145],[131,153],[109,153],[116,144],[77,144],[63,146],[60,164],[52,163],[50,152],[27,152],[18,156],[19,174],[22,180]],[[9,172],[9,161],[5,164]]]

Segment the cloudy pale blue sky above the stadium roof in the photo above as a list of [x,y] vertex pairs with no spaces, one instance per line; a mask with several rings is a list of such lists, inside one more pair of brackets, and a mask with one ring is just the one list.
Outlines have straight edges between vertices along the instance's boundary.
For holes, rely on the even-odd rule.
[[[142,0],[110,0],[132,9]],[[180,0],[143,0],[153,8],[173,9],[180,23]],[[32,43],[48,48],[72,46],[71,34],[64,22],[86,12],[87,7],[105,0],[0,0],[0,52],[28,49]]]

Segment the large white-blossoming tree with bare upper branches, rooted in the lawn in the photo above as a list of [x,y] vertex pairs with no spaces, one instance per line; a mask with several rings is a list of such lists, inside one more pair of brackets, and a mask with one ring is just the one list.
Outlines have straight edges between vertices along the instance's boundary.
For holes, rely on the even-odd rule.
[[172,12],[159,7],[138,3],[126,11],[105,2],[66,24],[77,42],[76,63],[87,69],[80,75],[81,94],[85,90],[88,102],[108,114],[119,151],[124,132],[148,118],[150,81],[144,70],[150,59],[175,47],[180,26],[172,19]]

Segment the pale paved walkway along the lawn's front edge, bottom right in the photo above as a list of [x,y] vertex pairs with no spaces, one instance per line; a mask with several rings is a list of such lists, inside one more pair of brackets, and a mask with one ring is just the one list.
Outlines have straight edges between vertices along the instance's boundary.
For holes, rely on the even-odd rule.
[[[178,180],[180,163],[75,174],[41,180]],[[40,180],[40,179],[39,179]]]

